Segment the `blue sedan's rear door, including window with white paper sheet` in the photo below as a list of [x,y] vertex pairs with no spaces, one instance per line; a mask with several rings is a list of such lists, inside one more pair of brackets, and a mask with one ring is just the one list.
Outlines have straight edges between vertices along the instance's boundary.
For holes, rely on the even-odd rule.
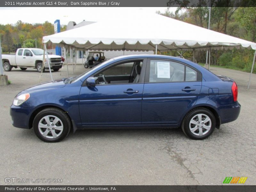
[[174,60],[148,59],[142,99],[142,124],[178,124],[201,91],[202,75]]

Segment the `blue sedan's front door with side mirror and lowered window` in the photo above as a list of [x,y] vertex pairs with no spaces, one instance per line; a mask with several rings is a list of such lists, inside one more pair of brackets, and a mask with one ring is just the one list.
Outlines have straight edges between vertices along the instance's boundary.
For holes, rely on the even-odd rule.
[[143,63],[141,59],[112,64],[93,75],[95,87],[83,84],[79,95],[83,126],[141,124]]

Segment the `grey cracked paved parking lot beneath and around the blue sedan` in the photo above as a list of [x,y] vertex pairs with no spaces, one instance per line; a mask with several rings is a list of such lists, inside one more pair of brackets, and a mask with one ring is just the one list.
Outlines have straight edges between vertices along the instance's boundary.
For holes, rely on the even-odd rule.
[[[85,70],[77,66],[75,74]],[[39,73],[5,72],[12,84],[0,87],[0,184],[25,184],[4,181],[16,177],[62,179],[51,183],[62,185],[221,185],[225,177],[237,176],[248,177],[245,185],[256,185],[256,75],[247,90],[249,73],[211,70],[236,80],[242,108],[236,121],[221,125],[206,140],[188,139],[180,129],[116,129],[80,130],[59,143],[45,143],[32,129],[12,126],[13,98],[38,84]],[[52,75],[58,79],[67,72]],[[40,82],[49,80],[46,71]]]

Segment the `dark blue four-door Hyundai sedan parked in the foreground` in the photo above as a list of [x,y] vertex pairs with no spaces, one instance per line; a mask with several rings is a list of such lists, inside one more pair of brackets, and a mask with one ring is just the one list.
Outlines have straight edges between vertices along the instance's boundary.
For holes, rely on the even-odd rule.
[[70,130],[178,128],[202,140],[240,113],[236,83],[189,60],[164,55],[110,59],[85,73],[20,92],[10,109],[15,127],[45,142]]

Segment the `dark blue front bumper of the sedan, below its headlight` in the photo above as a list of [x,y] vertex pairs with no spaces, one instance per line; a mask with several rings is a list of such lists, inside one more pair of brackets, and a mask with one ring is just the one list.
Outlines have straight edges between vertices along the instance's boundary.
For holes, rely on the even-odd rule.
[[29,127],[29,117],[32,109],[30,107],[21,107],[21,106],[12,105],[10,108],[12,125],[18,128],[30,129],[31,127]]

